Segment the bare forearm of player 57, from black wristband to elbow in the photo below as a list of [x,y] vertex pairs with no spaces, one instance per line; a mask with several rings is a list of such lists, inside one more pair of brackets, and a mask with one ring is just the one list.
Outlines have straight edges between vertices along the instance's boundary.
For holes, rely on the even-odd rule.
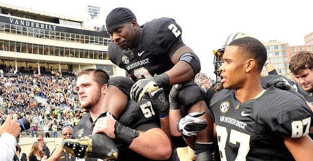
[[159,128],[140,132],[129,148],[142,156],[157,160],[168,159],[172,152],[170,139]]

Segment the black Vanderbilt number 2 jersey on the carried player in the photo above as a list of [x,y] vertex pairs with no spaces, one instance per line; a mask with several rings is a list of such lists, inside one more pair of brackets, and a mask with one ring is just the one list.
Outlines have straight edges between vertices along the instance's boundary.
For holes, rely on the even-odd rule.
[[109,45],[110,60],[125,69],[135,82],[171,69],[171,57],[185,46],[181,27],[171,18],[155,19],[141,28],[139,43],[133,50],[122,50],[113,42]]

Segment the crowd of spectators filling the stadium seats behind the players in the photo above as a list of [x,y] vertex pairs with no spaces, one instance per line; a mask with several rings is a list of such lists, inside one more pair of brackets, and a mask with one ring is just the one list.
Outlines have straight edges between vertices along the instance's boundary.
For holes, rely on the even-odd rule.
[[[4,76],[0,68],[0,112],[4,116],[12,114],[14,119],[25,117],[30,120],[29,137],[38,137],[38,134],[60,137],[58,131],[65,126],[74,127],[85,114],[79,106],[75,76],[41,76],[11,71],[7,70]],[[195,82],[206,90],[214,80],[199,72]],[[46,102],[38,102],[36,97]]]

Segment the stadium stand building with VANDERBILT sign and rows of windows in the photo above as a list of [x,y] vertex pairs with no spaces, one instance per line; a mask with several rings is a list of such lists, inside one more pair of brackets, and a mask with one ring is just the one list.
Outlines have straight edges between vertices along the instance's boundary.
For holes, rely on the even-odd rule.
[[95,18],[93,12],[87,26],[82,19],[0,3],[0,63],[41,75],[92,67],[125,76],[109,60],[110,36]]

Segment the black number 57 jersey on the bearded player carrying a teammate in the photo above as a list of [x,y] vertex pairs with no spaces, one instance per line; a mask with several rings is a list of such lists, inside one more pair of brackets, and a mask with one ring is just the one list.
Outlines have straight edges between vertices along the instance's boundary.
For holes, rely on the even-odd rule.
[[[127,127],[140,131],[147,131],[151,128],[159,128],[156,124],[159,119],[159,115],[155,113],[155,111],[156,110],[152,108],[151,102],[146,99],[142,99],[142,101],[138,103],[133,100],[129,100],[125,112],[120,116],[118,121]],[[90,113],[88,113],[75,126],[72,138],[77,139],[91,134],[95,124],[95,122],[91,122],[92,119]],[[151,160],[137,154],[117,140],[114,140],[114,142],[119,150],[117,160]],[[95,158],[90,157],[86,158],[86,160],[94,159]]]

